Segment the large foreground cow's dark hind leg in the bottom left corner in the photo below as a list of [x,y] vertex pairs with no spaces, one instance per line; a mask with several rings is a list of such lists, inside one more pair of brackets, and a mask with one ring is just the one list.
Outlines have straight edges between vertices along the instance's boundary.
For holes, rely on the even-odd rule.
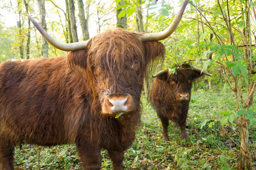
[[11,146],[9,140],[1,138],[0,135],[0,169],[1,170],[14,170],[13,165],[13,151],[14,147]]

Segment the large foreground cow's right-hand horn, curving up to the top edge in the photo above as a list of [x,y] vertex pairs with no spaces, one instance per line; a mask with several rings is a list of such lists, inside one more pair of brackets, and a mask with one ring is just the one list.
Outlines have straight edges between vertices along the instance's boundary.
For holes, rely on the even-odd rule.
[[169,25],[168,28],[166,28],[165,30],[161,31],[161,32],[156,32],[156,33],[145,33],[143,35],[141,35],[141,39],[143,42],[146,41],[159,41],[159,40],[163,40],[166,39],[167,37],[169,37],[174,30],[177,28],[181,17],[183,15],[183,12],[185,11],[185,8],[188,4],[189,0],[184,0],[183,4],[181,5],[180,11],[177,13],[177,15],[175,16],[174,20],[172,21],[172,23]]

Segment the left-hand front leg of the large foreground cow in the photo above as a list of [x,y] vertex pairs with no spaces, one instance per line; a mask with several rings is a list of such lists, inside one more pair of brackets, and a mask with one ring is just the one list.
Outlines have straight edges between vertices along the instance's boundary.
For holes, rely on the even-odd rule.
[[86,170],[99,170],[101,168],[101,149],[92,143],[76,143],[76,150]]

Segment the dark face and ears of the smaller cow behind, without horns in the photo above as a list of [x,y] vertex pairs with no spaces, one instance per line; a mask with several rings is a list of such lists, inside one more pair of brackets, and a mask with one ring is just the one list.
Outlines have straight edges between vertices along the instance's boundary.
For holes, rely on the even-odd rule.
[[189,102],[192,82],[203,74],[193,71],[191,66],[188,65],[181,65],[181,68],[176,69],[176,73],[169,74],[169,71],[166,70],[166,74],[158,78],[165,80],[169,84],[175,100],[178,102]]

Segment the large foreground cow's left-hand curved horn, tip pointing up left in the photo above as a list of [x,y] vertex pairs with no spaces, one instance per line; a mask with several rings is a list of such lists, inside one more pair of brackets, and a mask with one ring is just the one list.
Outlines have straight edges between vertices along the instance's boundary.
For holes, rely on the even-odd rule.
[[55,40],[52,36],[50,36],[44,28],[42,28],[37,21],[34,20],[33,17],[30,15],[29,19],[30,21],[35,25],[35,28],[38,29],[38,31],[41,33],[41,35],[45,38],[46,41],[48,41],[50,44],[52,44],[53,47],[58,48],[59,50],[62,51],[76,51],[76,50],[82,50],[86,48],[87,41],[81,41],[77,43],[70,43],[70,44],[65,44],[61,43],[57,40]]

